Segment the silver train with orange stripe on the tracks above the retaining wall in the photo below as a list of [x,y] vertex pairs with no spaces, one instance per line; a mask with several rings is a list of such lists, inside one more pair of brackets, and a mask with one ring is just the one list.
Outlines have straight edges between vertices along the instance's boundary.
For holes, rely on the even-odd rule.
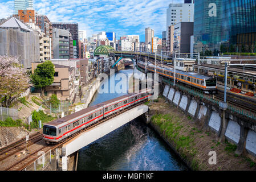
[[[139,61],[138,66],[145,70],[145,63]],[[148,63],[147,71],[155,73],[155,65]],[[156,72],[159,75],[174,79],[174,69],[173,68],[162,68],[156,67]],[[217,79],[200,75],[195,72],[183,72],[176,70],[176,80],[182,82],[186,85],[190,85],[194,88],[202,90],[207,94],[216,94],[217,93]]]

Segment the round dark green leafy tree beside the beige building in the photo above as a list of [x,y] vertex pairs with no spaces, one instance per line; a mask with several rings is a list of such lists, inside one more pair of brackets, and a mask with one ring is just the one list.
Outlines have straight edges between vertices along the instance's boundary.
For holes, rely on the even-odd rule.
[[34,70],[34,74],[31,75],[35,88],[42,88],[44,90],[46,86],[50,86],[54,82],[54,73],[54,64],[51,61],[38,64]]

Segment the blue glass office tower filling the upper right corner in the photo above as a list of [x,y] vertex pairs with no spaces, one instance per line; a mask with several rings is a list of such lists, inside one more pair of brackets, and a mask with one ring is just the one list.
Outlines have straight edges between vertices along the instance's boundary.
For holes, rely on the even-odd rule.
[[256,0],[197,0],[194,9],[194,52],[256,52]]

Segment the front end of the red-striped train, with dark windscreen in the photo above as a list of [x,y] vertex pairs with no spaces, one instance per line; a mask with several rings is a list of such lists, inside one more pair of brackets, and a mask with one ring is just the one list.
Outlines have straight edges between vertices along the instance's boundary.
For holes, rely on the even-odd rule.
[[57,138],[57,128],[56,126],[44,125],[43,126],[43,139],[46,143],[56,143],[58,142]]

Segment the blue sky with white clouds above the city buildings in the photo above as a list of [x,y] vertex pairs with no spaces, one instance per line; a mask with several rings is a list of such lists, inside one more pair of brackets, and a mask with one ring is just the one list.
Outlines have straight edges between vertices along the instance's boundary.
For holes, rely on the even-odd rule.
[[[161,38],[166,31],[166,9],[169,3],[182,0],[34,0],[34,9],[47,15],[51,22],[77,22],[87,36],[98,32],[140,35],[145,41],[145,28],[155,30]],[[14,13],[14,1],[0,0],[0,19]]]

